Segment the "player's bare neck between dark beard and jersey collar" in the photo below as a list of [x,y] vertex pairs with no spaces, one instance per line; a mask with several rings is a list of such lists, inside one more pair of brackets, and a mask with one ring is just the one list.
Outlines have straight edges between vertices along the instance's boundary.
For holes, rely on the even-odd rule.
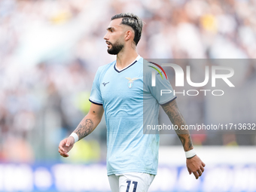
[[117,69],[124,69],[126,66],[129,66],[133,62],[138,53],[134,49],[125,50],[123,49],[120,53],[117,54]]

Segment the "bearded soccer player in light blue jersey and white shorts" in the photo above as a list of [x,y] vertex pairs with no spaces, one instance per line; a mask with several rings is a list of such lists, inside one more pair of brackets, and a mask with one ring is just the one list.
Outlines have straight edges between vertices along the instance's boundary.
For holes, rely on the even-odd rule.
[[205,166],[194,152],[190,133],[180,129],[185,121],[176,97],[160,96],[161,89],[172,90],[169,81],[156,75],[157,86],[151,86],[152,68],[143,68],[143,58],[136,52],[141,35],[142,20],[136,15],[117,14],[111,18],[104,39],[108,53],[117,55],[117,59],[99,67],[90,94],[89,113],[71,136],[59,143],[60,155],[69,157],[75,142],[92,133],[105,112],[107,170],[113,192],[148,191],[157,174],[159,134],[143,134],[143,127],[157,124],[160,105],[179,127],[175,131],[186,153],[188,172],[199,178]]

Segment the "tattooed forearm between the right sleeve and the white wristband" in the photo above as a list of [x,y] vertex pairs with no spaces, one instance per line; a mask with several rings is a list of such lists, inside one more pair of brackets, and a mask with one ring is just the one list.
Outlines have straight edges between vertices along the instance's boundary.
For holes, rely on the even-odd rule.
[[165,105],[162,105],[162,107],[168,115],[169,120],[171,120],[174,125],[178,126],[178,130],[175,130],[175,132],[177,133],[178,138],[181,140],[184,151],[190,151],[193,149],[189,131],[181,130],[181,125],[185,125],[186,122],[181,112],[178,110],[177,102],[174,100]]

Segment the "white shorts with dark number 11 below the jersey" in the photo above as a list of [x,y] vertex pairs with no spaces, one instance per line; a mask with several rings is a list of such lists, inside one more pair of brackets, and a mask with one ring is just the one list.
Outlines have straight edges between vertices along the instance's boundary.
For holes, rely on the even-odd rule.
[[109,175],[112,192],[147,192],[155,175],[143,172],[126,172]]

